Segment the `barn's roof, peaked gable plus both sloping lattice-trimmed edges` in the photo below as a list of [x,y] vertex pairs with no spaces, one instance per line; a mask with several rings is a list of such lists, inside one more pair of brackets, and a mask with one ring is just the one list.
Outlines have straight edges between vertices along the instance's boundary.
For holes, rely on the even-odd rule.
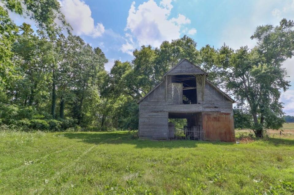
[[[183,67],[182,65],[185,65],[185,67]],[[183,71],[182,68],[184,68],[185,70]],[[196,66],[194,64],[192,64],[190,61],[188,61],[187,59],[181,59],[181,61],[179,61],[178,64],[176,64],[173,68],[171,68],[169,71],[167,71],[164,75],[163,78],[166,75],[183,75],[183,74],[187,74],[187,75],[195,75],[195,74],[205,74],[208,75],[207,72],[205,72],[204,70],[202,70],[199,66]],[[225,97],[227,97],[230,101],[232,101],[233,103],[235,103],[236,101],[233,100],[230,96],[228,96],[225,92],[223,92],[220,88],[218,88],[216,85],[214,85],[211,81],[207,80],[206,81],[212,85],[216,90],[218,90],[221,94],[223,94]],[[139,104],[143,99],[145,99],[152,91],[154,91],[160,84],[162,84],[163,81],[161,81],[160,83],[158,83],[152,90],[150,90],[144,97],[142,97],[137,103]]]

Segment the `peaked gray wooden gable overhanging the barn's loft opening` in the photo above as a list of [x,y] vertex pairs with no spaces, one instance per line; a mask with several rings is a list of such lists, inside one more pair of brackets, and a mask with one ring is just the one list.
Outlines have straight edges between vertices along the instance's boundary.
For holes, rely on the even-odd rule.
[[189,74],[189,75],[195,75],[195,74],[205,74],[208,75],[204,70],[202,70],[199,66],[196,66],[195,64],[192,64],[187,59],[181,59],[178,64],[176,64],[173,68],[171,68],[169,71],[167,71],[163,77],[166,75],[183,75],[183,74]]

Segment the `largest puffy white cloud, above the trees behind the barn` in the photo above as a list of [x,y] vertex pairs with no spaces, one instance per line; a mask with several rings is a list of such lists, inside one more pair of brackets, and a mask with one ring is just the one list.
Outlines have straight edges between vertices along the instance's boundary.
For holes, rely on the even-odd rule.
[[132,54],[131,50],[141,45],[160,46],[162,41],[171,41],[180,37],[183,25],[190,24],[189,18],[182,14],[168,19],[170,16],[172,0],[162,0],[159,5],[154,0],[149,0],[139,5],[132,2],[127,18],[126,43],[121,50]]

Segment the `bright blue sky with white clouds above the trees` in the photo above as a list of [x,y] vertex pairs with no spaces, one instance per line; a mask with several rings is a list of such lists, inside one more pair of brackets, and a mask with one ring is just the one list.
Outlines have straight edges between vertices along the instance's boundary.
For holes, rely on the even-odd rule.
[[[99,46],[109,59],[131,61],[132,50],[141,45],[159,46],[163,40],[192,37],[198,49],[206,44],[233,49],[255,45],[255,28],[294,20],[294,0],[59,0],[67,21],[91,46]],[[17,23],[19,16],[13,17]],[[28,20],[28,19],[25,19]],[[294,83],[294,59],[284,67]],[[294,84],[283,93],[285,112],[294,112]],[[294,116],[294,113],[291,113]]]

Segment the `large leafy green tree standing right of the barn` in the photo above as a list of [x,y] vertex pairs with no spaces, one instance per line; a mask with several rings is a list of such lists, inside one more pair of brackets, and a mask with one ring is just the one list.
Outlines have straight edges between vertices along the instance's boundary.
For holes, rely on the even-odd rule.
[[251,37],[258,40],[252,50],[245,46],[234,51],[224,45],[213,54],[223,87],[251,114],[250,128],[258,137],[284,123],[279,99],[289,81],[282,63],[294,54],[293,27],[293,21],[286,19],[276,27],[259,26]]

